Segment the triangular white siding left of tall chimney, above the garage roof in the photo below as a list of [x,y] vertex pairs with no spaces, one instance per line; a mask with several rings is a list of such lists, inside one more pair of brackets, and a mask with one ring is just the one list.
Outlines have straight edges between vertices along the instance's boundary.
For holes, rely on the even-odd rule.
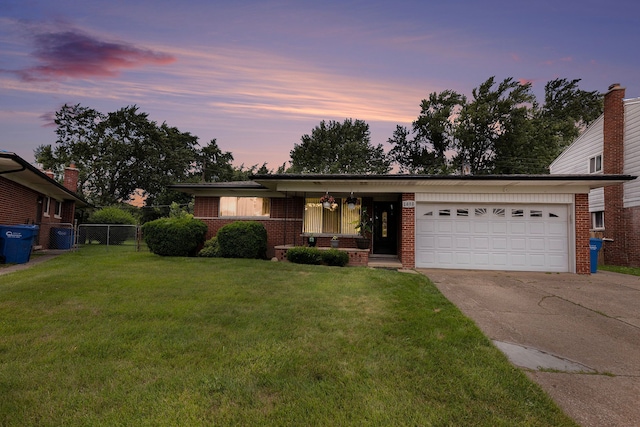
[[589,173],[589,158],[602,154],[604,116],[600,116],[551,163],[552,174]]

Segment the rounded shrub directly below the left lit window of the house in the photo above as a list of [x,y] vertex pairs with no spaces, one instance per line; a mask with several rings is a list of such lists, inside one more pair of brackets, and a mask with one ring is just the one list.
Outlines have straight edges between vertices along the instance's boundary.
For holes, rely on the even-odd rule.
[[222,257],[267,257],[267,229],[257,221],[232,222],[218,230],[216,237]]

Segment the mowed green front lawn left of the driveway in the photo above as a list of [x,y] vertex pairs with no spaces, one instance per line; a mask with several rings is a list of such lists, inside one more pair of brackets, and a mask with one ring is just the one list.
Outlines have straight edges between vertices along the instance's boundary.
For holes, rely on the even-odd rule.
[[0,276],[0,425],[575,425],[421,275],[83,249]]

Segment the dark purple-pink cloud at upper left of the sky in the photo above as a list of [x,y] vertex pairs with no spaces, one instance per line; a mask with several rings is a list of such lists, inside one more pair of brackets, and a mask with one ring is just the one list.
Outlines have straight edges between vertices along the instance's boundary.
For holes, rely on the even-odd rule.
[[35,44],[32,56],[40,64],[16,72],[25,81],[115,77],[123,69],[175,61],[175,57],[164,53],[101,41],[73,30],[38,34]]

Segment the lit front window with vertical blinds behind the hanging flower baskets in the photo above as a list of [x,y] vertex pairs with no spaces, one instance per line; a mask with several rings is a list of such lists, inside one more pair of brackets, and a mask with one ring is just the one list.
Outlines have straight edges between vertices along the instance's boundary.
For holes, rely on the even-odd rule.
[[325,209],[319,197],[307,197],[304,204],[303,231],[313,234],[358,234],[355,223],[360,218],[362,200],[355,209],[349,209],[336,199],[335,209]]

